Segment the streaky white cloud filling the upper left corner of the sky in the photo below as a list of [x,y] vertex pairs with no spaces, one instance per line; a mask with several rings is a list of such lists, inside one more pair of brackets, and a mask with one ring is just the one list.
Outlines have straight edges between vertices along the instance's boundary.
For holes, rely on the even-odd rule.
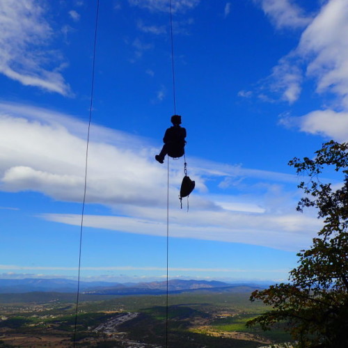
[[52,28],[37,1],[0,1],[0,29],[2,74],[24,86],[70,95],[70,86],[61,72],[44,68],[47,61],[56,63],[58,54],[45,50]]

